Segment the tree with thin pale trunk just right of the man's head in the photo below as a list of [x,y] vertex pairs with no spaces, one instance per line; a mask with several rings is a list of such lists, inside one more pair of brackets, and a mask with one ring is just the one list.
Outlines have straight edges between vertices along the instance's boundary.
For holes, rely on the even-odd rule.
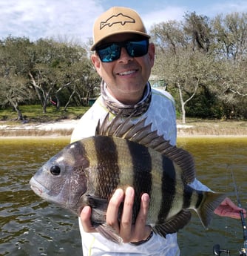
[[[199,19],[200,18],[200,19]],[[209,56],[209,29],[205,17],[186,16],[186,26],[178,22],[162,22],[152,29],[157,54],[153,74],[160,76],[168,88],[178,91],[183,123],[185,105],[192,100],[198,86],[212,76],[212,56]],[[199,47],[195,47],[195,42]]]

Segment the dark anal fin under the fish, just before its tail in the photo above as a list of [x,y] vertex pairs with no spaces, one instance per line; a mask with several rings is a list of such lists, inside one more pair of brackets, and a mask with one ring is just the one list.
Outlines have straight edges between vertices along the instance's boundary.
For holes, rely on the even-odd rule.
[[182,210],[165,223],[157,224],[152,229],[155,233],[166,237],[166,234],[172,234],[179,229],[183,229],[189,223],[192,213],[189,210]]

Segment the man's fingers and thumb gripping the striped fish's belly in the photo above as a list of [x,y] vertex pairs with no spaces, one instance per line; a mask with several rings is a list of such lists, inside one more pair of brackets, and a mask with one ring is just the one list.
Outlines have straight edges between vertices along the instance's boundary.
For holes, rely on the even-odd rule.
[[[122,237],[124,243],[139,242],[146,240],[151,233],[151,228],[146,226],[146,218],[149,209],[149,195],[143,194],[141,197],[141,207],[135,225],[132,225],[132,208],[134,204],[135,191],[133,188],[126,188],[126,191],[117,189],[109,201],[106,211],[106,223]],[[121,222],[118,221],[118,209],[124,200],[124,209],[121,216]],[[91,208],[85,206],[81,211],[81,224],[84,232],[96,232],[92,227]]]

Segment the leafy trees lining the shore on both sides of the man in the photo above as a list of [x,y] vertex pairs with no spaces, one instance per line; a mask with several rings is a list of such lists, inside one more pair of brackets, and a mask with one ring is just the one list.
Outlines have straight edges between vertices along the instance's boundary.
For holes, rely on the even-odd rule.
[[[152,75],[175,97],[177,116],[184,122],[185,116],[247,119],[247,13],[212,19],[186,13],[181,22],[155,24],[150,34],[156,47]],[[35,104],[41,116],[67,118],[72,106],[90,105],[101,83],[89,59],[90,44],[2,39],[2,111],[14,109],[18,119],[30,118],[23,105]],[[15,114],[2,116],[16,119]]]

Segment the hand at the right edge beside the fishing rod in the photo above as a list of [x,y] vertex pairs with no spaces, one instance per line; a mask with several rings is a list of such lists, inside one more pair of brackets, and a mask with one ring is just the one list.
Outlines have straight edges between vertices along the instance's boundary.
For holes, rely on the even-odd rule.
[[226,197],[220,206],[214,210],[214,213],[223,217],[232,217],[234,219],[240,219],[240,210],[243,210],[243,215],[246,217],[246,209],[242,209],[236,206],[229,197]]

